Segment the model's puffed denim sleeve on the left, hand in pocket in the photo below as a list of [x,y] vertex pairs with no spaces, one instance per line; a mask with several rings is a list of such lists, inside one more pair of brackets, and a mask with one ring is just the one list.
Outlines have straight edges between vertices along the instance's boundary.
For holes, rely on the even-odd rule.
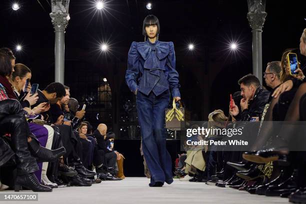
[[137,42],[132,42],[128,51],[125,81],[129,89],[133,92],[138,88],[137,85],[138,73],[139,73],[139,68],[138,68]]

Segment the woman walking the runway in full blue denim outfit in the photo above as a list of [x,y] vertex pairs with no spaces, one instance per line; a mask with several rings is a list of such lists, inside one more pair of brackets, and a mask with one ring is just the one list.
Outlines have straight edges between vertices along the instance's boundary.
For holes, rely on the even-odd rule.
[[144,42],[131,43],[125,74],[129,89],[136,95],[142,150],[151,172],[151,187],[173,182],[164,109],[169,104],[170,91],[176,101],[180,100],[173,42],[159,41],[159,33],[158,18],[147,15],[142,25]]

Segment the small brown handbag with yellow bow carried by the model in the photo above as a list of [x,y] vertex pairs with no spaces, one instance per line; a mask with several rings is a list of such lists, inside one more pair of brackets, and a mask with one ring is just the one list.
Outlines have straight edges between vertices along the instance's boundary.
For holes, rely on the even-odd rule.
[[170,130],[184,129],[185,122],[190,121],[190,112],[182,107],[179,101],[179,107],[175,105],[175,98],[172,101],[172,108],[165,109],[165,128]]

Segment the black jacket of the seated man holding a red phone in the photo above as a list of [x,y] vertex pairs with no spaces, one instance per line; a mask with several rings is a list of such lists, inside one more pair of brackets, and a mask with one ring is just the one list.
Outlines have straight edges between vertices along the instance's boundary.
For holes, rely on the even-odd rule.
[[252,100],[248,102],[248,108],[244,109],[236,118],[240,121],[249,121],[251,117],[261,117],[264,106],[268,103],[270,91],[263,89],[260,85],[255,93]]

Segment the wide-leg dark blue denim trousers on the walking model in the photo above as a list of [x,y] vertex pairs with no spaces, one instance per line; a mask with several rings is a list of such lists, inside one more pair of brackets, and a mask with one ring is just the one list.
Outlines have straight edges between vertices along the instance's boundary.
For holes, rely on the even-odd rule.
[[151,183],[156,181],[170,184],[172,162],[166,149],[164,128],[164,110],[170,99],[169,90],[156,96],[152,91],[145,95],[140,91],[136,95],[137,114],[142,137],[142,151],[151,173]]

